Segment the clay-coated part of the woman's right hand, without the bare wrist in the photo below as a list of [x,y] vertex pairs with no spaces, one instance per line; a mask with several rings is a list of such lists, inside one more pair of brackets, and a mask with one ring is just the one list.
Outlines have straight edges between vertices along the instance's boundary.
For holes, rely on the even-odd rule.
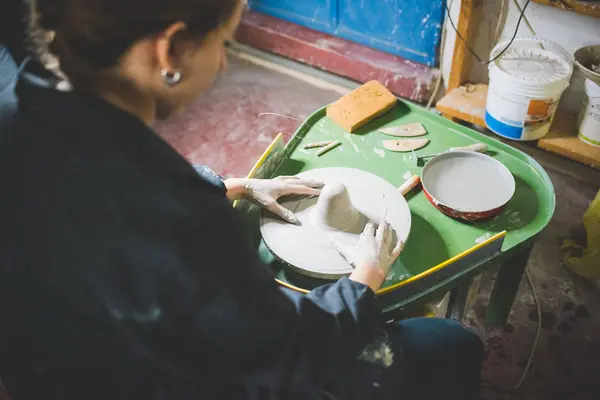
[[400,240],[394,243],[393,236],[393,229],[387,222],[382,221],[377,229],[375,224],[369,222],[356,246],[337,241],[333,241],[333,244],[354,268],[376,267],[385,277],[404,247]]

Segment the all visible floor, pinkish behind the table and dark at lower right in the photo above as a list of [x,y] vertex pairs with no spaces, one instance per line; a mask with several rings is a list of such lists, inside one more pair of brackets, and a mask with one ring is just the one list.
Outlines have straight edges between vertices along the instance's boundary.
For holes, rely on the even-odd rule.
[[[312,111],[338,97],[294,78],[231,59],[230,71],[214,89],[176,120],[158,126],[161,135],[194,163],[218,173],[245,175],[277,135],[292,135]],[[260,115],[278,113],[277,115]],[[558,255],[564,237],[581,236],[581,217],[598,187],[550,173],[556,215],[534,248],[530,273],[542,303],[542,335],[528,379],[511,397],[487,388],[482,399],[592,400],[600,398],[600,290],[566,271]],[[518,381],[534,340],[537,316],[525,281],[509,323],[485,328],[483,311],[493,275],[465,323],[484,338],[484,378],[509,388]],[[0,389],[0,400],[7,396]]]

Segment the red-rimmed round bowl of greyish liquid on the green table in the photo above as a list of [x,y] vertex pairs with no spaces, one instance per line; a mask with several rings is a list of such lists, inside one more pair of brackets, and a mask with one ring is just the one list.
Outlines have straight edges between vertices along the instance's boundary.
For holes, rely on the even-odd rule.
[[501,213],[515,193],[508,168],[486,154],[453,151],[432,158],[421,174],[429,202],[449,217],[478,221]]

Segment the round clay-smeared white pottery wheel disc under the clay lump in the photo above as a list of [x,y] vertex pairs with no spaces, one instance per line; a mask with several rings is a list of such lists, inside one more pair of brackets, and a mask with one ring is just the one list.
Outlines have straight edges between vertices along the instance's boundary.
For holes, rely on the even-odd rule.
[[[318,221],[318,214],[322,212],[318,207],[323,201],[318,204],[317,198],[297,196],[281,198],[279,203],[296,214],[300,220],[298,225],[288,224],[263,211],[260,230],[265,244],[277,258],[298,272],[324,279],[339,279],[352,273],[353,268],[338,253],[331,240],[356,245],[368,221],[378,225],[385,219],[394,230],[394,240],[400,238],[406,241],[408,238],[411,225],[408,204],[385,179],[353,168],[314,169],[300,173],[298,177],[318,180],[326,188],[343,185],[352,206],[360,215],[343,230],[326,227]],[[340,203],[331,204],[339,207]]]

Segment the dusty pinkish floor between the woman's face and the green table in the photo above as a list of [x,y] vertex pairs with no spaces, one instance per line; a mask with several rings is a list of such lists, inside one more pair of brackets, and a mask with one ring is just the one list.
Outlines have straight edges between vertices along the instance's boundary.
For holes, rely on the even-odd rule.
[[279,132],[291,137],[306,117],[339,97],[235,57],[229,64],[209,93],[157,126],[189,161],[223,176],[246,175]]

